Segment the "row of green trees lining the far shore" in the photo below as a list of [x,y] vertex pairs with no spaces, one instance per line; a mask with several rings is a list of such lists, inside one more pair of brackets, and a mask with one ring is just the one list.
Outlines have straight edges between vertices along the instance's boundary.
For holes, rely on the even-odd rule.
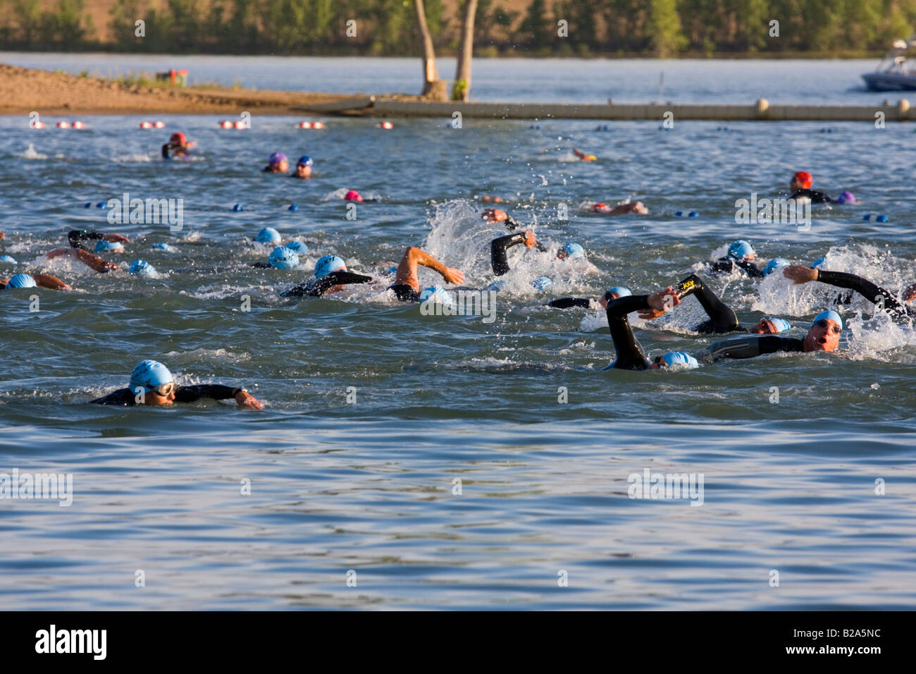
[[[457,46],[462,5],[425,0],[441,54]],[[524,8],[478,0],[476,54],[865,53],[887,50],[916,22],[916,0],[529,0],[513,6]],[[0,17],[0,49],[420,53],[413,0],[117,0],[108,42],[98,39],[83,0],[58,0],[45,9],[38,0],[0,0]],[[142,37],[138,19],[145,22]]]

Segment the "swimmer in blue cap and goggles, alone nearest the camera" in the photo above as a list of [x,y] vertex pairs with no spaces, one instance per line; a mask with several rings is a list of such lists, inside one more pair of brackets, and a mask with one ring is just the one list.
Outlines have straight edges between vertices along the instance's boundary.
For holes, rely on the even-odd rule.
[[178,386],[169,369],[156,360],[141,360],[130,373],[130,385],[118,389],[91,403],[103,405],[170,405],[172,403],[193,403],[201,398],[227,400],[234,398],[239,407],[249,410],[263,410],[255,396],[245,389],[232,388],[222,384],[197,384]]

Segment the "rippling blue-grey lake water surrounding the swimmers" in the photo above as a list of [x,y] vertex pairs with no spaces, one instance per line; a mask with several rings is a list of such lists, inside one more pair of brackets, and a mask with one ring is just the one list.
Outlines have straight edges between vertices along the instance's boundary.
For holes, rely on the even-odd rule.
[[[99,58],[53,66],[82,69]],[[266,72],[269,62],[243,59],[238,69]],[[575,77],[604,63],[556,62]],[[725,87],[741,63],[720,65]],[[850,73],[837,87],[854,83],[860,68],[848,62],[813,67],[840,65]],[[730,82],[740,98],[758,95],[741,89],[758,67],[747,64],[747,77]],[[327,85],[303,88],[332,88],[315,77]],[[490,85],[494,98],[536,97],[530,82]],[[791,100],[803,100],[802,84],[792,86]],[[714,97],[703,91],[685,96]],[[834,101],[858,100],[840,91]],[[19,260],[3,271],[49,271],[74,288],[0,295],[0,472],[73,476],[69,507],[0,500],[0,607],[916,604],[911,330],[871,319],[863,314],[870,304],[856,298],[843,311],[842,348],[831,354],[601,371],[614,358],[604,316],[543,305],[616,284],[649,292],[702,269],[735,238],[749,239],[763,260],[810,264],[827,255],[829,268],[897,291],[916,279],[911,127],[621,122],[597,131],[587,121],[532,129],[465,120],[453,129],[444,119],[413,119],[384,131],[372,120],[324,118],[327,128],[312,131],[289,117],[255,116],[251,129],[237,131],[217,128],[213,116],[153,118],[167,127],[93,116],[82,131],[54,128],[57,117],[33,130],[25,117],[0,117],[0,254]],[[194,161],[158,160],[175,130],[198,141]],[[599,160],[573,160],[573,147]],[[277,149],[310,154],[314,179],[260,172]],[[850,190],[861,204],[815,206],[808,231],[736,225],[736,199],[777,193],[802,169],[815,187]],[[347,219],[346,189],[377,201]],[[181,231],[113,225],[106,211],[84,208],[122,193],[181,198]],[[387,279],[408,245],[482,287],[493,279],[488,241],[501,234],[479,220],[483,193],[506,197],[549,248],[583,244],[594,273],[513,249],[492,323],[421,315],[371,287],[337,299],[278,296],[332,252]],[[628,195],[649,215],[605,218],[579,207]],[[676,217],[681,209],[700,215]],[[888,222],[863,220],[868,213]],[[251,242],[267,225],[309,246],[300,270],[250,266],[267,257]],[[148,260],[161,278],[42,260],[71,228],[129,235],[125,252],[107,257]],[[158,242],[178,252],[153,249]],[[530,281],[541,275],[553,285],[537,291]],[[422,285],[435,282],[422,270]],[[794,336],[832,296],[776,276],[712,285],[743,322],[781,315]],[[654,325],[634,325],[650,353],[695,352],[711,341],[687,329],[701,316],[688,299]],[[245,385],[266,409],[87,404],[125,386],[147,358],[182,383]],[[702,505],[629,498],[629,476],[644,470],[702,475]],[[136,586],[138,570],[145,587]]]

